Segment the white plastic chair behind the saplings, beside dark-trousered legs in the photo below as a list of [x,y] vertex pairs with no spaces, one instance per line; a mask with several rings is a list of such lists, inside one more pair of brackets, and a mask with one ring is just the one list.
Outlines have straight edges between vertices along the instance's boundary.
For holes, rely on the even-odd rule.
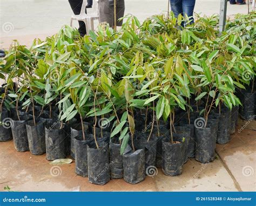
[[[99,20],[99,11],[98,11],[98,1],[93,0],[92,13],[85,13],[87,1],[83,0],[82,9],[79,15],[71,16],[70,26],[72,27],[73,20],[80,20],[85,23],[86,33],[89,33],[90,30],[94,30],[94,20]],[[88,11],[88,9],[87,9]]]

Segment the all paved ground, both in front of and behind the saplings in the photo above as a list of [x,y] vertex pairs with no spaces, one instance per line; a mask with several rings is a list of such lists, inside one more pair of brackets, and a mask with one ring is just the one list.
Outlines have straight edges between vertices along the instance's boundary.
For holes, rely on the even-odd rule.
[[[212,15],[219,12],[219,4],[220,0],[197,0],[195,12]],[[166,11],[166,0],[126,0],[126,13],[139,20]],[[246,12],[247,5],[228,4],[227,15]],[[12,39],[30,45],[34,38],[52,35],[69,24],[71,14],[66,0],[0,0],[0,47],[8,48]],[[4,25],[10,30],[3,29]],[[237,131],[245,123],[241,121]],[[75,163],[52,167],[45,155],[19,153],[12,141],[0,142],[0,191],[5,186],[20,191],[254,191],[256,131],[251,129],[256,129],[255,121],[232,135],[230,143],[217,145],[217,159],[210,164],[191,159],[178,177],[165,176],[158,169],[157,176],[146,177],[136,185],[111,180],[105,186],[96,186],[74,173]]]

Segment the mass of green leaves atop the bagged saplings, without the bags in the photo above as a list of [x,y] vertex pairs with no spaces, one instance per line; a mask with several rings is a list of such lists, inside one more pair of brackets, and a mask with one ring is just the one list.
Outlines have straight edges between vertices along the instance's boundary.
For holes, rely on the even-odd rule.
[[183,17],[171,13],[142,24],[128,16],[117,32],[99,26],[83,38],[64,26],[30,48],[15,41],[0,60],[1,109],[57,105],[60,121],[79,115],[94,118],[95,126],[105,117],[122,152],[135,132],[136,109],[172,123],[174,109],[192,111],[193,97],[207,122],[220,104],[240,105],[235,91],[255,77],[255,17],[238,15],[221,36],[218,16],[181,28]]

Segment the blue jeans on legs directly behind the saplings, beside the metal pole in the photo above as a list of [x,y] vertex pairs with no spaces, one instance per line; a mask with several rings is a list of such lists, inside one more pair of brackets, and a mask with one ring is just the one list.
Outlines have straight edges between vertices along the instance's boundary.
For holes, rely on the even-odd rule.
[[[185,17],[185,13],[191,20],[190,23],[194,23],[193,12],[194,12],[194,4],[196,0],[170,0],[171,9],[174,15],[177,17],[180,13]],[[184,26],[184,23],[181,23]]]

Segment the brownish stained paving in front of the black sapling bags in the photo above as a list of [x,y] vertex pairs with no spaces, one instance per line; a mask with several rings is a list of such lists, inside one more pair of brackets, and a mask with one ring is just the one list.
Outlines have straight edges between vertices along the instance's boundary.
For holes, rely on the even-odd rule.
[[[256,129],[256,121],[250,126]],[[136,185],[111,180],[105,186],[77,176],[75,163],[52,166],[45,155],[19,153],[12,141],[0,142],[0,191],[5,186],[15,191],[255,191],[255,140],[256,131],[244,129],[232,135],[230,143],[217,145],[219,155],[212,163],[190,159],[177,177],[165,176],[158,169],[157,176],[147,176]]]

